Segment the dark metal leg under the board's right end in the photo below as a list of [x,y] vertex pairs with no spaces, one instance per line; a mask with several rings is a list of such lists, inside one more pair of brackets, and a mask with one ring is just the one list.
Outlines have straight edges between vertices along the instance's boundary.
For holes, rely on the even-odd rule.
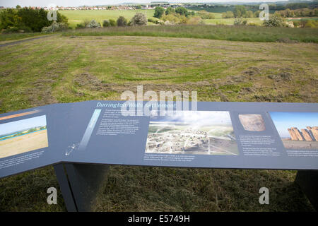
[[298,170],[295,182],[310,200],[312,206],[318,210],[318,171]]

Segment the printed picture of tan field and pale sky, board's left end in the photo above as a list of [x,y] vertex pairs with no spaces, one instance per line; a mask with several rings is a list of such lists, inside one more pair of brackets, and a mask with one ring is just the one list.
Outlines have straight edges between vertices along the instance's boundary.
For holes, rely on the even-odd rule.
[[0,158],[46,147],[45,115],[0,124]]

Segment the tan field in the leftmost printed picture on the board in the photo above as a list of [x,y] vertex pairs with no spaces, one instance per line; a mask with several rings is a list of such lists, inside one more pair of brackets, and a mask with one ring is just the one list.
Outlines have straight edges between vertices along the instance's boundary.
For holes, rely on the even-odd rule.
[[48,146],[47,130],[36,131],[0,141],[0,158],[26,153]]

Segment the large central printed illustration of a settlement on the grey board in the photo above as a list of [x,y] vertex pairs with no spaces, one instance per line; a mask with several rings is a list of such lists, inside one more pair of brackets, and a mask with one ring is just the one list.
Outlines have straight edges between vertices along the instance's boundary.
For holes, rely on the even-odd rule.
[[179,111],[152,116],[146,153],[238,155],[229,112]]

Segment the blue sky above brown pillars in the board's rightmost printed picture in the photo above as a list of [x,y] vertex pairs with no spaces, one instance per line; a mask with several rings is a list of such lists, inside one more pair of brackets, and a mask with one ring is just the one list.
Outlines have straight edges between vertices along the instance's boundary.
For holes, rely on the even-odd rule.
[[290,137],[288,130],[290,127],[307,129],[306,126],[318,126],[317,112],[269,112],[271,119],[276,126],[279,136]]

